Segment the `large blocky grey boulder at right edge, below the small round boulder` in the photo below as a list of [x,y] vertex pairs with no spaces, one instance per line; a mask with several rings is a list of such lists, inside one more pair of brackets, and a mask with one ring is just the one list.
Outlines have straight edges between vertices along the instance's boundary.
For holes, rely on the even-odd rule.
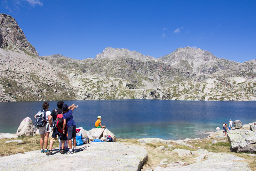
[[256,153],[256,132],[250,129],[230,130],[227,133],[231,152]]

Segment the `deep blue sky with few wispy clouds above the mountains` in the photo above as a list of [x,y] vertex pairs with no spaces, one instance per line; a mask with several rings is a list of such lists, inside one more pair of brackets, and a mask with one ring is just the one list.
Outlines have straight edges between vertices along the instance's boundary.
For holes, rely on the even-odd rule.
[[1,0],[40,56],[95,58],[106,47],[155,58],[195,47],[256,59],[256,1]]

